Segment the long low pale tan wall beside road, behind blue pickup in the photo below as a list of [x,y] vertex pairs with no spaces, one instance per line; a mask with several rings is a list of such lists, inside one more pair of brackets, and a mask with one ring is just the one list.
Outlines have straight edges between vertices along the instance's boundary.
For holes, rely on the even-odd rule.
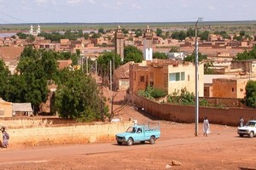
[[9,146],[42,144],[84,144],[115,141],[115,134],[124,132],[132,122],[73,124],[61,127],[7,128]]

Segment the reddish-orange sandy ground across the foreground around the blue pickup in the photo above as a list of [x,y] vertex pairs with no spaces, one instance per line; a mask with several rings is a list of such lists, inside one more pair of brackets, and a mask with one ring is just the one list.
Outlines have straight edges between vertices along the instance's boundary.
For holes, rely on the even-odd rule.
[[[122,99],[122,95],[119,98]],[[114,108],[119,107],[115,105]],[[90,154],[64,154],[47,161],[2,162],[0,169],[15,170],[82,170],[82,169],[125,169],[125,170],[158,170],[158,169],[240,169],[256,170],[256,138],[240,138],[236,127],[211,124],[212,133],[202,135],[202,124],[199,124],[199,135],[195,137],[195,124],[166,122],[143,115],[131,105],[120,111],[122,119],[137,119],[139,123],[160,122],[161,137],[155,144],[134,144],[119,146],[115,141],[104,144],[87,144],[87,147],[107,147],[102,152]],[[211,122],[211,120],[209,120]],[[56,146],[45,146],[47,148]],[[58,146],[60,147],[60,146]],[[68,146],[61,146],[63,150]],[[44,146],[32,150],[44,150]],[[3,152],[12,149],[0,150]],[[25,149],[13,149],[16,153]],[[31,152],[33,153],[33,152]],[[26,157],[27,155],[24,155]],[[176,163],[175,163],[176,162]]]

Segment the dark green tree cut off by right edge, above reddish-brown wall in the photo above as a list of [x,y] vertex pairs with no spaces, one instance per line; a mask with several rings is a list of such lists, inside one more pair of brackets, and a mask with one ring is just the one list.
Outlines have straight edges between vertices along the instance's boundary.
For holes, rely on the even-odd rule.
[[256,81],[247,82],[245,103],[249,107],[256,108]]

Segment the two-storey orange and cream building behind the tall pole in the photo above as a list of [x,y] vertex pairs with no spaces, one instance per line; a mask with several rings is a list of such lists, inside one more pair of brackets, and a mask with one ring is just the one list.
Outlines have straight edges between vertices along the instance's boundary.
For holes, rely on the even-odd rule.
[[[204,96],[204,66],[198,66],[198,93]],[[172,94],[175,90],[187,88],[195,94],[195,65],[170,59],[154,59],[130,65],[130,90],[137,93],[148,85]]]

